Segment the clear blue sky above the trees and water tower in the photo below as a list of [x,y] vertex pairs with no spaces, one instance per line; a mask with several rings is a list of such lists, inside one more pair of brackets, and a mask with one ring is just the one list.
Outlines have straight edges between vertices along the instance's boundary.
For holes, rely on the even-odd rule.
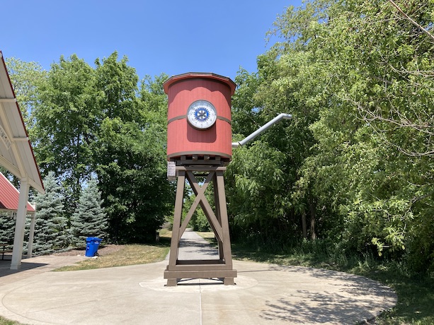
[[265,33],[301,0],[2,1],[4,57],[44,69],[77,54],[93,66],[115,51],[145,75],[213,72],[234,79],[256,71]]

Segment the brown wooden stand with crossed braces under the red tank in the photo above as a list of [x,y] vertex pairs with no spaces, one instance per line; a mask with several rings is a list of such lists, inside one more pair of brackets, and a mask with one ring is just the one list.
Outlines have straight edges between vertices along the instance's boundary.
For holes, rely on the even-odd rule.
[[[229,238],[229,221],[227,218],[226,196],[224,192],[224,171],[226,167],[219,159],[203,157],[198,160],[197,156],[192,159],[178,160],[176,162],[176,201],[173,215],[173,229],[169,265],[164,271],[164,278],[168,286],[175,286],[182,278],[220,278],[224,285],[234,285],[236,270],[232,266],[231,242]],[[206,177],[205,182],[200,184],[196,177]],[[195,201],[188,210],[185,220],[181,224],[183,211],[183,198],[185,179],[195,193]],[[207,201],[205,191],[210,183],[214,185],[215,209],[213,210]],[[205,213],[212,231],[217,238],[219,246],[219,259],[211,260],[179,260],[179,244],[181,236],[187,228],[195,209],[200,206]]]

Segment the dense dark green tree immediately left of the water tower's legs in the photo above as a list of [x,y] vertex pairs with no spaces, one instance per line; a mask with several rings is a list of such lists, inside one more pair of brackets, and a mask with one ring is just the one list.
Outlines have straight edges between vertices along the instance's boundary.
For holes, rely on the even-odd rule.
[[147,242],[169,213],[173,195],[153,129],[105,119],[99,138],[99,188],[115,242]]

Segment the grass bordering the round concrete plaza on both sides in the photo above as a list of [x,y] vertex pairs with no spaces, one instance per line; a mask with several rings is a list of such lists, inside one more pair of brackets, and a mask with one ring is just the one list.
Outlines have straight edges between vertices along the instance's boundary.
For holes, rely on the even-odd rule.
[[[198,232],[199,235],[215,244],[214,234]],[[160,242],[153,245],[125,245],[123,249],[98,259],[88,259],[73,266],[56,271],[75,271],[90,268],[108,268],[133,264],[147,264],[162,261],[170,247],[171,233],[160,233]],[[434,324],[434,275],[408,276],[399,268],[399,264],[379,264],[374,258],[347,259],[324,254],[321,249],[311,249],[312,252],[291,252],[290,254],[273,254],[254,250],[251,247],[232,244],[234,259],[244,261],[265,262],[280,265],[308,266],[327,268],[335,271],[353,273],[372,278],[393,288],[398,295],[398,303],[392,310],[385,311],[378,319],[379,325]],[[0,325],[17,325],[0,317]]]

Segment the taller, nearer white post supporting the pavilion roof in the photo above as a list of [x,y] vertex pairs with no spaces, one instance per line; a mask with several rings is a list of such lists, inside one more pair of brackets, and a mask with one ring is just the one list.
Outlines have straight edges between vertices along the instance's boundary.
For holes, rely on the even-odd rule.
[[25,228],[25,215],[27,214],[29,184],[26,178],[20,182],[20,196],[18,198],[18,211],[16,212],[15,236],[13,237],[13,252],[11,270],[18,270],[23,257],[23,241]]

